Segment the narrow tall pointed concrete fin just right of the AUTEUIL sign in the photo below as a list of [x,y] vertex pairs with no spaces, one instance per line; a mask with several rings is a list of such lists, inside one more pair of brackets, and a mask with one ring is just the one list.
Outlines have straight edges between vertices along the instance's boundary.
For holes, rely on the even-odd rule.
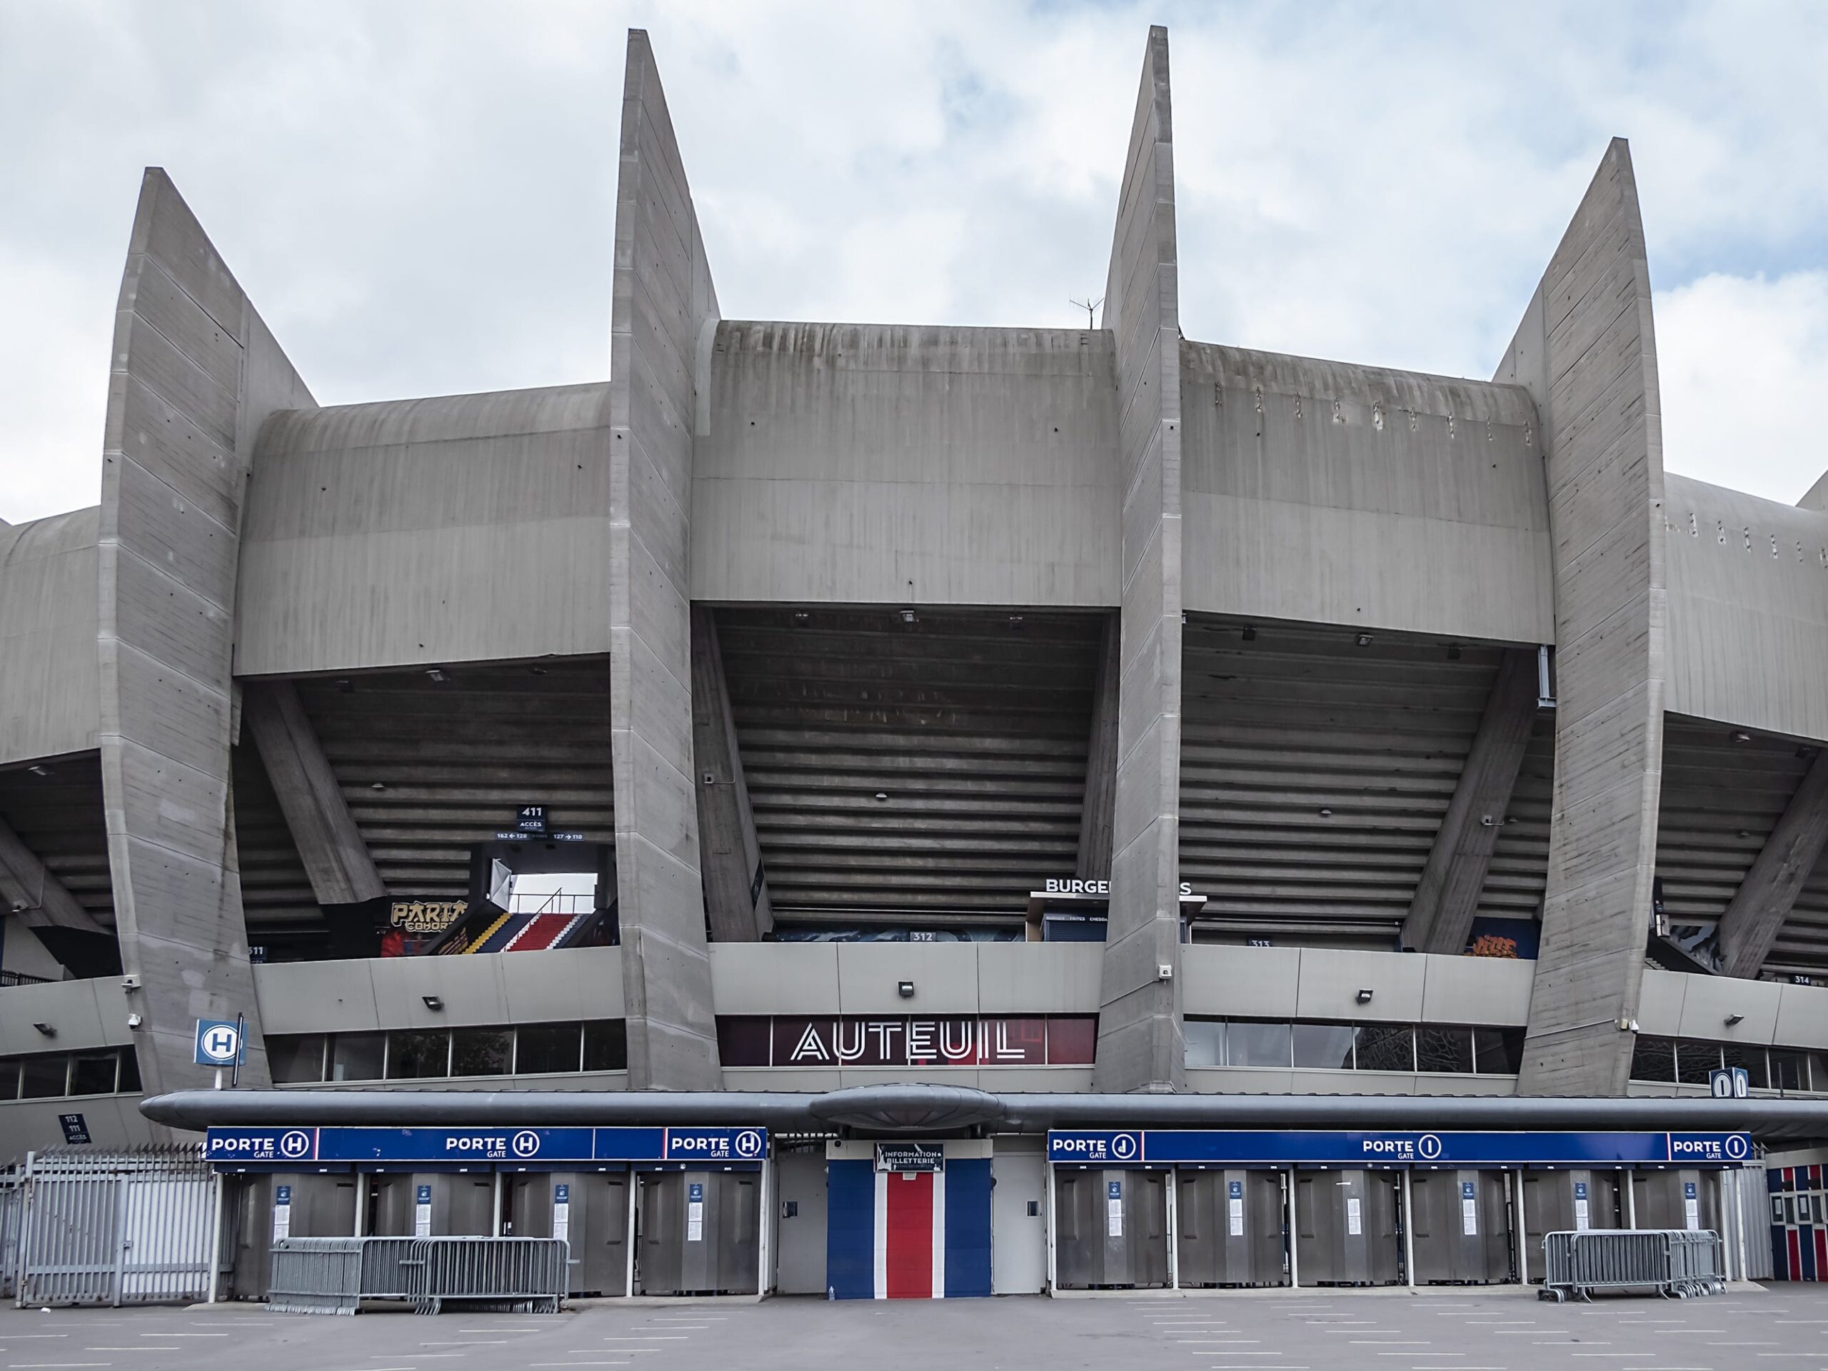
[[[1168,31],[1152,27],[1117,207],[1104,325],[1117,344],[1122,634],[1111,903],[1093,1082],[1172,1091],[1181,1035],[1181,324]],[[1164,974],[1166,969],[1166,974]]]

